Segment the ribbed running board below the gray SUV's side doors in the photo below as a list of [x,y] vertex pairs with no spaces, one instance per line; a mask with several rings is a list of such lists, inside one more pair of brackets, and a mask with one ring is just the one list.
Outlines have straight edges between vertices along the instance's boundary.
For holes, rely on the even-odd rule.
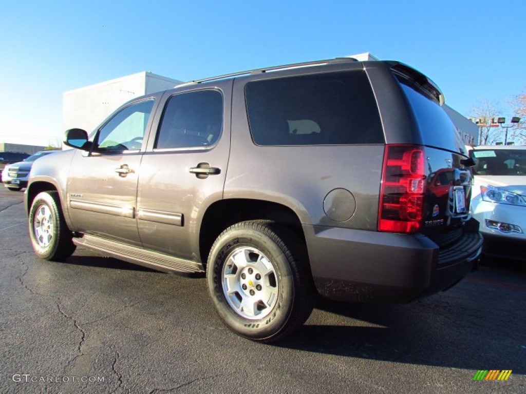
[[128,263],[142,265],[147,268],[157,269],[167,273],[196,274],[205,272],[203,264],[195,261],[183,260],[164,253],[144,250],[141,247],[126,245],[116,241],[106,240],[93,235],[84,234],[82,237],[73,238],[77,246],[85,246],[97,252],[102,252],[110,257],[127,261]]

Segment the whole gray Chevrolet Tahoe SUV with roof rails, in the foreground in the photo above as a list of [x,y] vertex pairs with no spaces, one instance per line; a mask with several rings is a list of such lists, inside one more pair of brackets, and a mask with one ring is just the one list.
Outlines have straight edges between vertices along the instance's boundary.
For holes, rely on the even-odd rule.
[[472,162],[442,103],[420,72],[354,59],[136,98],[35,162],[33,248],[206,272],[221,320],[264,342],[301,326],[316,293],[404,303],[441,291],[482,245]]

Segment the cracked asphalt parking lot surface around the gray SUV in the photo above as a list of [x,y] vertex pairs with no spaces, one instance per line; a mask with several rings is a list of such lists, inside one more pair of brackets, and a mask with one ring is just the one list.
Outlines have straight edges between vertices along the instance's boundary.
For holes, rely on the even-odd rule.
[[2,393],[526,392],[526,266],[493,260],[408,305],[320,299],[261,345],[220,323],[203,278],[80,248],[39,260],[22,200],[0,189]]

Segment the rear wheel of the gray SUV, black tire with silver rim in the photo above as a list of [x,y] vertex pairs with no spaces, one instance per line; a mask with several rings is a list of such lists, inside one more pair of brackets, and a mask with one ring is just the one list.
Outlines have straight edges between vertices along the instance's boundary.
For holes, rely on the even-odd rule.
[[240,222],[222,232],[208,257],[207,281],[219,317],[245,338],[279,340],[312,312],[306,246],[271,221]]

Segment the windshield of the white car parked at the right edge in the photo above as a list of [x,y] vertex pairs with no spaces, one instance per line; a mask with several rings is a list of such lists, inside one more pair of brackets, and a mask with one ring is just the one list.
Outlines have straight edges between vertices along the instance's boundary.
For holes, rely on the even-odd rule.
[[476,175],[526,174],[526,149],[476,149],[471,155],[476,159]]

